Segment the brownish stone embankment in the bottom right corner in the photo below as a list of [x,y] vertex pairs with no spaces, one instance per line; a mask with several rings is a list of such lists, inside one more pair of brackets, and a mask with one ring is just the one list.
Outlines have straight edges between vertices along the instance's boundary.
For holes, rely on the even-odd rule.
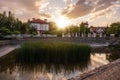
[[120,59],[68,80],[120,80]]

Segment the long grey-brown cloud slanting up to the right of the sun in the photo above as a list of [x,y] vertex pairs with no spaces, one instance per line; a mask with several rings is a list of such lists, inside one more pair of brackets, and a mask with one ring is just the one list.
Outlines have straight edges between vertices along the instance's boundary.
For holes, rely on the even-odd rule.
[[112,3],[119,3],[119,0],[79,0],[71,12],[69,9],[65,9],[63,12],[69,18],[78,18],[91,12],[104,10],[114,5]]

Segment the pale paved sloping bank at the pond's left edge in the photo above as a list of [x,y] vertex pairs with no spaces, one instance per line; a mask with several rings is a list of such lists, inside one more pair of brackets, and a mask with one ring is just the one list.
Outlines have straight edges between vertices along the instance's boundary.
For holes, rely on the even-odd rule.
[[9,52],[13,51],[14,49],[18,48],[19,46],[4,46],[4,47],[0,47],[0,57],[8,54]]

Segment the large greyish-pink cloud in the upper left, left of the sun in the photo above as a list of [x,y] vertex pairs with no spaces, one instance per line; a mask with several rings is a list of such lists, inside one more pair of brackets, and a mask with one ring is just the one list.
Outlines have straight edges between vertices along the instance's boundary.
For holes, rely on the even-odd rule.
[[40,12],[47,5],[49,5],[47,0],[0,0],[0,12],[10,10],[23,21],[33,17],[48,18],[49,14]]

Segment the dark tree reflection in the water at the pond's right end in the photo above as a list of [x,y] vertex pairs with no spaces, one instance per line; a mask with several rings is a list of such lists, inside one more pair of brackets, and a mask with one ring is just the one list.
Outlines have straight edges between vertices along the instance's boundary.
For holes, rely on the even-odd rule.
[[106,55],[107,60],[110,62],[120,58],[120,51],[119,50],[111,50],[111,54]]

